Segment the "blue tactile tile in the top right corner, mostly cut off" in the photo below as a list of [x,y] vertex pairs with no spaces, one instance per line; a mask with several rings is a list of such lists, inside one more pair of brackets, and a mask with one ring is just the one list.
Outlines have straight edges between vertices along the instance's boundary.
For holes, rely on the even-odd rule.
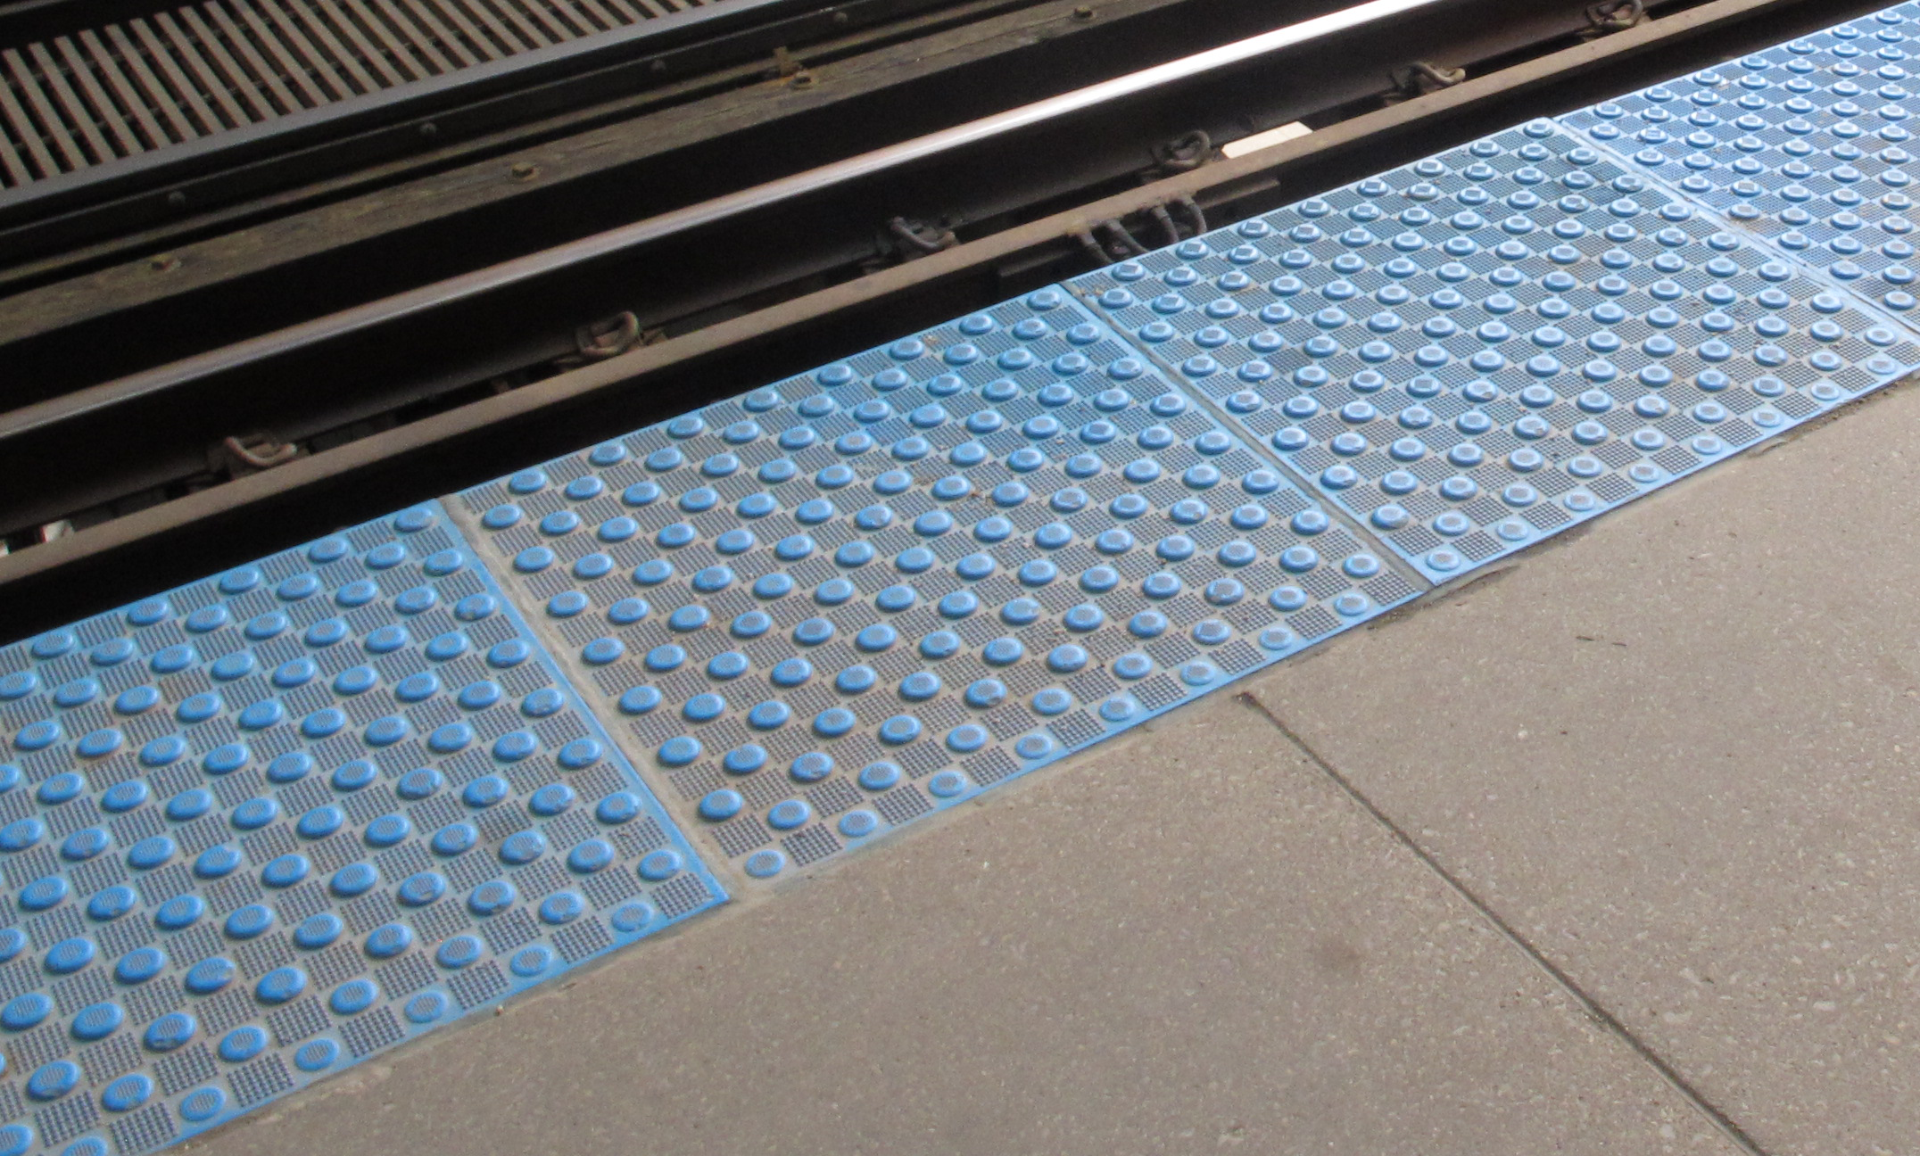
[[1920,4],[1561,117],[1795,259],[1914,311]]

